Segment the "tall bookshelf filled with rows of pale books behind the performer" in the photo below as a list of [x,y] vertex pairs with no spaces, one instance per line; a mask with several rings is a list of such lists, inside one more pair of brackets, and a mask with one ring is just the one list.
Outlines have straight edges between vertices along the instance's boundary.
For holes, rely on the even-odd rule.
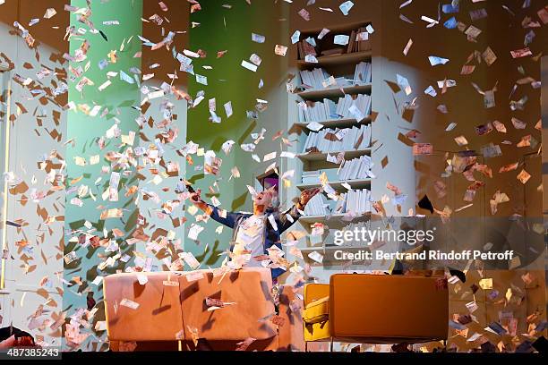
[[[347,193],[348,187],[353,191],[372,190],[373,177],[372,174],[368,174],[368,168],[372,164],[374,60],[369,39],[361,40],[361,43],[355,41],[352,47],[350,45],[352,38],[364,39],[364,34],[359,38],[357,34],[363,33],[371,23],[359,21],[301,30],[295,53],[295,78],[289,81],[288,85],[290,92],[287,128],[294,133],[291,136],[292,140],[295,140],[289,148],[295,153],[295,158],[287,159],[282,165],[284,171],[294,170],[291,187],[287,191],[288,199],[298,196],[306,189],[321,187],[318,177],[321,174],[328,177],[328,183],[337,195]],[[324,28],[330,32],[320,39],[319,35]],[[348,36],[347,47],[335,42],[336,36],[340,35]],[[302,43],[310,38],[313,38],[313,43],[303,46]],[[307,57],[306,50],[315,53],[314,57]],[[352,106],[355,107],[350,113],[348,109]],[[340,132],[341,130],[345,132]],[[321,133],[324,135],[321,136]],[[317,136],[314,136],[315,134]],[[333,135],[336,138],[333,138]],[[358,136],[356,139],[355,135]],[[318,140],[318,144],[315,144]],[[324,140],[329,141],[326,144]],[[328,158],[338,157],[340,152],[344,152],[345,165],[357,161],[353,162],[357,166],[357,172],[352,170],[352,174],[345,174],[350,177],[341,178],[345,165],[339,168],[340,164],[328,161]],[[371,220],[371,204],[368,208],[360,206],[360,213],[356,214],[354,210],[347,211],[346,208],[340,207],[337,209],[332,204],[332,199],[323,199],[326,203],[330,202],[326,214],[308,212],[299,218],[296,229],[304,229],[311,233],[314,224],[322,223],[329,235],[330,229],[341,229],[346,225]],[[322,243],[312,242],[310,237],[307,237],[306,242],[299,242],[297,248],[302,251],[304,261],[313,264],[307,256],[309,253],[317,251],[324,254],[328,250],[334,250],[332,246],[326,246],[326,242],[325,237]]]

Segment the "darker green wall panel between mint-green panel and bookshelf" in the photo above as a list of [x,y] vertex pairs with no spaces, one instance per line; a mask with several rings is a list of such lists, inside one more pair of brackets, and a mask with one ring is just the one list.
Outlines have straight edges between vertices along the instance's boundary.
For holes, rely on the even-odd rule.
[[[230,4],[231,8],[227,9],[223,4]],[[204,90],[205,99],[199,106],[188,111],[187,140],[193,140],[206,150],[212,149],[223,159],[223,163],[217,177],[204,176],[202,171],[194,172],[193,166],[187,167],[186,176],[195,182],[195,187],[201,188],[202,198],[207,202],[210,202],[211,197],[208,187],[219,179],[220,194],[217,198],[221,202],[221,208],[227,210],[252,210],[252,199],[245,185],[253,186],[253,173],[256,174],[261,166],[266,168],[272,163],[257,163],[253,160],[252,153],[242,150],[240,144],[252,143],[250,134],[261,132],[264,126],[268,131],[267,135],[254,153],[262,158],[264,154],[278,149],[279,155],[279,140],[272,142],[271,137],[286,125],[286,110],[270,108],[259,113],[258,121],[248,119],[246,111],[255,110],[256,98],[270,100],[270,92],[285,94],[283,75],[287,72],[284,66],[287,61],[285,57],[274,55],[275,44],[289,46],[286,24],[279,21],[285,8],[285,4],[269,2],[253,2],[249,5],[244,1],[212,0],[201,3],[201,11],[191,14],[191,21],[199,22],[200,26],[190,30],[189,49],[194,52],[201,49],[207,53],[206,58],[193,61],[194,72],[207,76],[208,85],[196,82],[195,77],[189,75],[189,93],[195,98],[198,91]],[[268,19],[265,19],[265,13],[270,14]],[[253,42],[252,32],[265,36],[266,41],[262,44]],[[217,58],[217,52],[224,50],[227,53]],[[262,59],[257,72],[241,66],[242,60],[249,62],[253,53]],[[212,70],[203,69],[202,65],[210,65]],[[259,89],[261,79],[265,86]],[[211,123],[209,120],[210,98],[216,98],[217,115],[222,118],[221,123]],[[234,110],[234,114],[228,119],[224,109],[227,101],[232,102]],[[221,149],[226,140],[235,140],[228,156]],[[202,157],[195,157],[195,160],[194,165],[203,163]],[[233,166],[238,167],[241,177],[228,181]],[[206,260],[202,261],[202,267],[203,264],[218,266],[223,258],[218,258],[218,250],[227,250],[231,240],[231,230],[224,227],[223,233],[218,235],[215,233],[217,226],[218,223],[212,221],[205,225],[206,229],[199,236],[199,245],[186,239],[185,248],[193,249],[197,256],[203,252],[205,243],[210,245],[210,252],[205,255]],[[213,251],[211,247],[214,247],[216,241],[218,249]]]

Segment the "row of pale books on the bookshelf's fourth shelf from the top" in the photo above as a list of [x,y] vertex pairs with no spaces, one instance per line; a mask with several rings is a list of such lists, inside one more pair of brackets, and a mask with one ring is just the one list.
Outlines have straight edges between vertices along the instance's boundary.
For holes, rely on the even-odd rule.
[[340,152],[367,149],[371,145],[371,125],[345,129],[323,128],[310,132],[304,142],[303,153],[308,151]]

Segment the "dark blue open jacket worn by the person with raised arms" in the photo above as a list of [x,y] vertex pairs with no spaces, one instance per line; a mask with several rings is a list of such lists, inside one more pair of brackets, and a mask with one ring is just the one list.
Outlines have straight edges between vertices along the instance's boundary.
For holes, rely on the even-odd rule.
[[[233,236],[232,236],[232,241],[233,242],[235,241],[236,233],[238,231],[238,227],[239,227],[240,223],[242,223],[242,221],[244,219],[246,219],[250,216],[253,216],[250,213],[227,212],[227,216],[222,217],[222,216],[219,215],[218,208],[215,208],[211,205],[209,205],[209,206],[210,206],[210,208],[212,208],[210,217],[214,221],[220,223],[221,225],[227,225],[227,227],[232,228],[234,230],[233,231]],[[291,222],[289,219],[287,219],[286,214],[289,214],[289,216],[291,216],[293,218],[293,222]],[[275,230],[274,227],[272,227],[272,225],[270,225],[270,221],[268,219],[268,217],[270,215],[274,216],[276,225],[278,225],[278,231]],[[299,211],[297,210],[295,205],[292,208],[289,208],[285,212],[282,212],[282,213],[272,212],[272,211],[268,211],[268,210],[265,212],[265,216],[264,216],[264,218],[265,218],[264,219],[265,232],[264,232],[264,235],[263,235],[263,237],[264,237],[263,248],[264,248],[264,254],[265,255],[268,255],[267,250],[270,249],[270,247],[272,247],[272,246],[276,246],[276,247],[278,247],[278,249],[282,250],[281,241],[279,239],[281,233],[284,233],[287,230],[287,228],[289,228],[291,225],[294,225],[295,222],[297,221],[297,219],[299,219],[300,216],[301,216],[301,214],[299,213]],[[234,248],[234,246],[231,245],[230,250],[232,250],[233,248]],[[275,277],[278,277],[278,276],[282,275],[286,270],[284,270],[282,268],[272,268],[271,271],[272,271],[272,278],[275,278]]]

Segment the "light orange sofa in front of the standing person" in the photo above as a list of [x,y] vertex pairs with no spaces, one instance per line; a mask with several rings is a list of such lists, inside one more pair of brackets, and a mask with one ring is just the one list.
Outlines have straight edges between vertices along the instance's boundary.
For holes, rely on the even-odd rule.
[[[140,275],[146,276],[146,284],[139,283],[136,273],[104,280],[107,335],[113,351],[128,349],[127,343],[135,351],[192,350],[196,340],[199,349],[235,350],[250,338],[254,340],[248,351],[304,349],[302,318],[294,301],[298,291],[281,288],[279,316],[273,317],[268,268],[244,268],[225,276],[216,270]],[[207,298],[234,304],[209,310]]]

